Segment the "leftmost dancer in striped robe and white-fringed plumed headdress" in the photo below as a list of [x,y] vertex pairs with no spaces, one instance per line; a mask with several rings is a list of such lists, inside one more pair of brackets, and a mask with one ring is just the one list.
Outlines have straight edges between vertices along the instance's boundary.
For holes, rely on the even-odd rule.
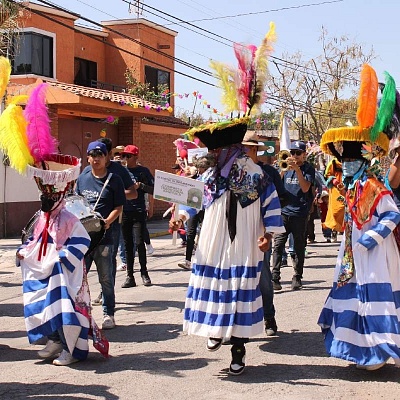
[[[0,94],[10,77],[10,63],[0,57]],[[108,341],[91,317],[90,293],[83,258],[90,236],[65,208],[64,197],[80,173],[80,159],[57,154],[51,135],[45,91],[36,86],[29,97],[17,96],[0,116],[0,149],[19,173],[35,180],[41,211],[32,234],[17,251],[23,277],[25,325],[30,343],[49,340],[38,352],[54,365],[84,360],[88,337],[104,356]],[[21,103],[26,103],[22,110]]]

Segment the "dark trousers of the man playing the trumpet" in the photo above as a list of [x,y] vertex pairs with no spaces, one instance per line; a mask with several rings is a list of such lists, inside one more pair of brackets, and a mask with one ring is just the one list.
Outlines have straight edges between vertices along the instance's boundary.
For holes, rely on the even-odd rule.
[[293,234],[293,247],[295,255],[293,259],[293,268],[295,272],[294,276],[298,278],[303,277],[304,249],[306,247],[306,228],[308,217],[295,217],[282,214],[282,218],[286,232],[278,233],[274,238],[274,267],[272,269],[272,279],[274,281],[279,281],[281,279],[282,255],[290,233]]

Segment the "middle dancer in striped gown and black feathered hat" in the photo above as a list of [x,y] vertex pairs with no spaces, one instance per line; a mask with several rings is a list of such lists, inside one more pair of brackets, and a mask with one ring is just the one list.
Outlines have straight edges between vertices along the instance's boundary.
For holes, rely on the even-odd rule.
[[[275,186],[242,145],[249,116],[264,99],[266,58],[272,51],[275,27],[271,24],[259,48],[234,46],[236,69],[212,62],[223,88],[228,112],[242,117],[190,129],[216,159],[201,180],[204,221],[192,264],[186,296],[184,331],[207,337],[207,350],[216,351],[224,339],[232,347],[229,372],[245,368],[245,343],[264,330],[264,313],[258,286],[263,252],[273,232],[282,232],[280,204]],[[196,215],[180,207],[170,226],[177,230]]]

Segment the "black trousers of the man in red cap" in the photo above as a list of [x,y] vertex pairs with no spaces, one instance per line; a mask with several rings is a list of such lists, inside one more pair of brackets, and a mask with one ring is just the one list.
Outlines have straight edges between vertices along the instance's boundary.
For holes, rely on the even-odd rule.
[[122,235],[125,242],[126,273],[133,277],[135,262],[135,244],[139,256],[140,274],[147,274],[146,246],[144,244],[143,226],[146,222],[144,212],[124,211],[122,215]]

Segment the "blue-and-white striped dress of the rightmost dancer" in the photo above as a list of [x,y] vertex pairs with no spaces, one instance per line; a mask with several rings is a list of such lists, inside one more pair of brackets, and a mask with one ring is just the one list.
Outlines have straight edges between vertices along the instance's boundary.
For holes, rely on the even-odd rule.
[[348,284],[337,287],[343,240],[335,283],[318,320],[330,356],[363,366],[390,357],[399,362],[400,259],[392,235],[399,222],[399,211],[389,195],[379,200],[372,219],[362,229],[353,222],[355,273]]

